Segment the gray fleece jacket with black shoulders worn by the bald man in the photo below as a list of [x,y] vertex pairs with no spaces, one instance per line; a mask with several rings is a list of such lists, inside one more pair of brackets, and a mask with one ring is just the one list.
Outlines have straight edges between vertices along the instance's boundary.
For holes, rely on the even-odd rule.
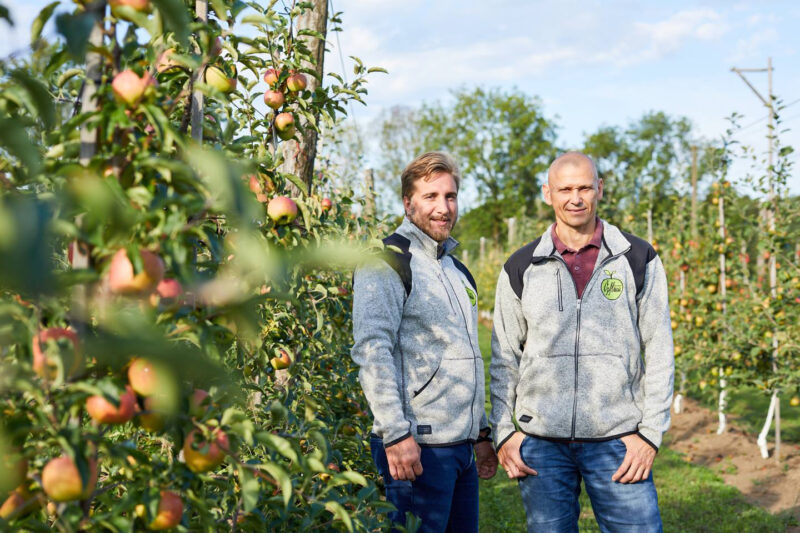
[[603,221],[578,299],[550,229],[514,253],[497,282],[490,421],[499,449],[533,436],[607,440],[669,427],[674,358],[667,279],[652,246]]

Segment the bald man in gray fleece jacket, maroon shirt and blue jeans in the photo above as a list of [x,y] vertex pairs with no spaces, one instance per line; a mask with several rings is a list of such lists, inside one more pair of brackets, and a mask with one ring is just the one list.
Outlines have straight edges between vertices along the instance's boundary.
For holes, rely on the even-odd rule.
[[651,467],[674,358],[664,267],[597,216],[603,180],[568,152],[542,186],[555,223],[505,263],[490,422],[529,532],[578,531],[581,480],[601,531],[661,531]]

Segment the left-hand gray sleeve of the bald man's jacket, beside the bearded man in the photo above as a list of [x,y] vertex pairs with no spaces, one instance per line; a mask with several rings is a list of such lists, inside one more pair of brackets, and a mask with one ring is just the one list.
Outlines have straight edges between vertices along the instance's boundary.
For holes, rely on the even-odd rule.
[[492,425],[495,448],[498,450],[516,431],[514,404],[517,400],[519,363],[528,326],[522,314],[522,303],[509,283],[505,269],[497,280],[494,304],[494,329],[492,331],[492,361],[490,392],[492,397]]

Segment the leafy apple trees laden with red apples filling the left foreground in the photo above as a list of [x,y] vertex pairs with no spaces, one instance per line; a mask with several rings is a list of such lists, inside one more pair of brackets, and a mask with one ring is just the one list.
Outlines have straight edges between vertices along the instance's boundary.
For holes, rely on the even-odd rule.
[[[146,3],[115,2],[95,111],[46,112],[55,104],[43,94],[80,92],[80,64],[63,43],[26,67],[28,85],[0,85],[0,118],[35,149],[0,152],[9,184],[0,219],[14,222],[0,228],[12,260],[0,265],[0,457],[9,458],[0,470],[21,472],[14,457],[27,465],[0,486],[0,527],[372,531],[385,522],[374,482],[358,473],[370,470],[368,420],[347,356],[346,266],[357,256],[347,243],[368,224],[338,194],[289,198],[297,177],[278,170],[280,143],[335,124],[364,93],[366,69],[312,94],[310,53],[292,33],[304,7],[254,5],[245,17],[209,4],[209,22],[191,23],[182,40],[191,14],[179,28],[176,11],[159,18]],[[237,17],[258,36],[237,36]],[[146,31],[126,32],[124,20]],[[270,69],[266,92],[284,102],[262,117],[252,102]],[[204,83],[192,81],[198,72]],[[42,90],[14,98],[28,86]],[[206,96],[210,148],[188,134],[194,90]],[[98,133],[88,164],[82,126]],[[317,170],[313,188],[325,191],[328,169]],[[68,247],[89,256],[87,268],[64,259]],[[339,264],[345,272],[331,269]],[[51,470],[59,493],[44,486]]]

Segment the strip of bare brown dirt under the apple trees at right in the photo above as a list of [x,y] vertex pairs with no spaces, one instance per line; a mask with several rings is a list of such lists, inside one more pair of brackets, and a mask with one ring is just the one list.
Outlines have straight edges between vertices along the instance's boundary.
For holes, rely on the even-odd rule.
[[[731,423],[733,422],[733,423]],[[716,413],[689,399],[680,414],[672,414],[669,446],[686,460],[717,472],[751,503],[772,513],[789,510],[800,521],[800,446],[781,444],[781,462],[774,459],[770,434],[769,459],[762,459],[757,434],[748,434],[728,418],[726,431],[717,435]],[[800,532],[800,527],[792,528]]]

